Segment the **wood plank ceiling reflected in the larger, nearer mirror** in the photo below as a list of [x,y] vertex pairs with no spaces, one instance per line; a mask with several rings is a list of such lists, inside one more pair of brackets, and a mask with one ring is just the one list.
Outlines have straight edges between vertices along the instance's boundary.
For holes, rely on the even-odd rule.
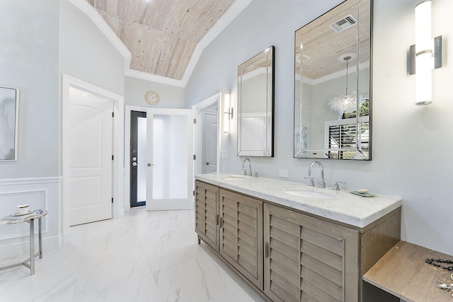
[[[357,2],[359,1],[357,0]],[[357,20],[357,6],[346,11],[341,11],[341,7],[337,6],[297,30],[297,33],[304,36],[302,58],[296,58],[297,60],[302,59],[304,77],[316,80],[344,70],[345,61],[338,58],[344,54],[357,54],[357,30],[359,30],[360,40],[359,62],[360,64],[369,62],[369,0],[361,0],[359,8],[360,21],[339,33],[331,28],[331,24],[344,23],[341,20],[350,15]],[[335,17],[332,18],[332,16]],[[350,67],[352,66],[355,66],[355,62],[350,64]],[[300,74],[300,71],[297,72]]]

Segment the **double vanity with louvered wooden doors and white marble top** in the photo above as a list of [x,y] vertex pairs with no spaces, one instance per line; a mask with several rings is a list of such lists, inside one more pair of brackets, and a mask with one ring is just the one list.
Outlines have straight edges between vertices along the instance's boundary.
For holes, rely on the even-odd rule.
[[199,243],[270,301],[362,301],[362,274],[400,238],[397,197],[222,174],[195,186]]

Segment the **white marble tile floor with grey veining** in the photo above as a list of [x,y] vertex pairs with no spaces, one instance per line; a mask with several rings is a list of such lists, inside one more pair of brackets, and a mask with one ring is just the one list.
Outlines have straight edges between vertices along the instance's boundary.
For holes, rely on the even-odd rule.
[[[146,211],[71,227],[68,243],[0,271],[0,301],[265,301],[197,244],[192,211]],[[16,261],[16,260],[14,260]],[[17,260],[18,261],[18,260]]]

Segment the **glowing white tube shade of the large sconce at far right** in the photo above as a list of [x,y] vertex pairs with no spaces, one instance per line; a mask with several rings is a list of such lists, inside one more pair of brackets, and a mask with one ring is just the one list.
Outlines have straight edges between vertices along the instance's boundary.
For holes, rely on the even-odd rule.
[[423,1],[415,6],[415,105],[432,103],[433,49],[431,1]]

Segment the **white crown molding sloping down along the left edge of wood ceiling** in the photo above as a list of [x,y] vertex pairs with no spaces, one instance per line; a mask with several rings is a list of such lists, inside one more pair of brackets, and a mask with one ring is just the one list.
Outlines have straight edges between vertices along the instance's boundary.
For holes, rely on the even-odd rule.
[[101,15],[96,11],[96,8],[93,8],[90,4],[88,4],[85,0],[68,0],[71,4],[74,4],[76,8],[79,8],[80,11],[86,14],[88,18],[93,21],[94,25],[96,25],[101,33],[107,37],[107,39],[113,44],[118,52],[124,57],[125,59],[125,70],[130,69],[130,60],[132,57],[131,52],[125,47],[125,45],[121,42],[120,38],[113,32],[112,28],[104,21]]

